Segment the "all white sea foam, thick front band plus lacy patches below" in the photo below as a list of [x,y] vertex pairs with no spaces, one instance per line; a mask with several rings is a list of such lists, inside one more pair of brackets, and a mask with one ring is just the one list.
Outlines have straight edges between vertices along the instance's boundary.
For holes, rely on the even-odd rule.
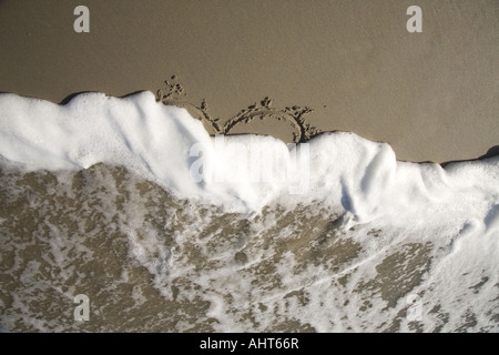
[[[211,212],[196,215],[197,223],[193,220],[189,229],[184,225],[182,230],[175,229],[181,223],[176,221],[179,212],[172,212],[164,223],[179,245],[173,247],[164,244],[161,233],[145,226],[147,211],[141,205],[129,205],[125,222],[115,230],[126,235],[131,255],[154,275],[156,287],[166,298],[173,297],[172,280],[185,277],[198,285],[203,292],[190,293],[186,288],[183,297],[190,302],[196,297],[207,301],[211,306],[206,314],[220,321],[220,331],[251,328],[230,315],[251,300],[265,305],[262,310],[273,310],[277,317],[292,314],[317,331],[376,329],[386,323],[379,325],[378,318],[388,312],[388,303],[394,311],[387,320],[398,317],[399,328],[407,331],[410,322],[400,321],[398,315],[407,306],[405,298],[391,295],[397,290],[385,290],[383,277],[395,284],[407,282],[409,286],[404,287],[411,292],[410,300],[416,300],[416,294],[425,295],[420,306],[428,327],[457,327],[462,325],[462,317],[472,314],[478,328],[497,329],[497,322],[493,324],[491,320],[497,318],[493,312],[498,308],[499,158],[452,163],[445,169],[432,163],[400,162],[388,144],[346,132],[325,133],[306,144],[289,150],[279,140],[258,135],[224,136],[221,144],[221,138],[210,136],[186,110],[157,103],[150,92],[122,99],[86,93],[65,105],[0,95],[0,155],[6,164],[16,163],[27,171],[78,171],[100,162],[123,165],[179,197],[247,215],[252,233],[262,239],[266,231],[279,225],[272,241],[275,245],[295,242],[299,234],[296,229],[302,224],[293,221],[282,225],[283,216],[277,210],[263,213],[265,206],[282,205],[292,211],[298,205],[320,202],[339,214],[332,223],[348,234],[336,239],[332,229],[325,235],[343,251],[335,257],[348,253],[355,257],[342,261],[332,272],[328,267],[333,261],[326,264],[314,258],[297,261],[298,255],[283,252],[278,262],[268,266],[278,275],[278,285],[267,290],[255,288],[251,277],[256,265],[265,265],[266,260],[275,256],[272,248],[264,244],[255,247],[258,241],[213,244],[211,239],[224,225],[208,229],[205,240],[200,240],[197,236],[205,233],[202,229],[216,222]],[[201,168],[201,175],[196,175]],[[58,179],[62,185],[67,184],[63,175]],[[115,199],[114,195],[103,199],[99,211],[103,214],[111,211],[113,206],[105,203]],[[141,199],[135,195],[132,200]],[[196,207],[192,211],[198,213]],[[305,211],[303,217],[312,220],[314,213]],[[109,224],[112,223],[119,222],[110,216]],[[55,225],[45,224],[60,237]],[[314,231],[313,226],[307,227],[306,233]],[[375,237],[376,229],[383,229],[383,233]],[[52,239],[51,250],[55,263],[62,265],[70,256],[61,239]],[[231,261],[237,250],[253,246],[248,247],[252,254],[244,267],[232,261],[197,273],[194,265],[185,264],[192,258],[182,254],[189,243],[196,243],[200,255],[216,255],[211,260],[214,265]],[[327,248],[324,241],[310,243]],[[359,252],[350,251],[355,245],[360,245]],[[85,257],[92,257],[86,246],[79,250]],[[393,265],[400,271],[391,270]],[[38,264],[30,267],[32,271],[27,268],[26,275],[39,272]],[[415,267],[419,270],[417,277],[410,271]],[[299,272],[293,272],[297,268]],[[407,270],[410,272],[406,275]],[[62,277],[69,278],[73,272],[74,266],[68,266]],[[348,280],[340,281],[343,277]],[[477,280],[487,282],[477,286]],[[272,283],[268,281],[267,286]],[[332,291],[335,287],[342,292]],[[133,297],[143,304],[146,296],[141,290],[135,287]],[[218,293],[221,290],[231,295],[227,296],[232,297],[231,304]],[[373,290],[378,290],[383,297],[375,297]],[[282,300],[284,294],[298,295],[305,291],[313,295],[307,302],[298,296]],[[272,326],[262,310],[255,306],[253,314],[258,329]],[[349,324],[349,328],[342,323]],[[177,327],[182,328],[181,323]]]

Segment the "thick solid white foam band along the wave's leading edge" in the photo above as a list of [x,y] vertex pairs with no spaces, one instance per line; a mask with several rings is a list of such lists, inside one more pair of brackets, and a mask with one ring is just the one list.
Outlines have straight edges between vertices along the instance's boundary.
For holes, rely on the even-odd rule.
[[[201,146],[201,158],[193,153],[195,146]],[[390,212],[424,212],[429,202],[454,205],[467,193],[497,199],[497,160],[446,171],[437,164],[397,162],[388,144],[344,132],[323,134],[308,148],[309,156],[292,160],[286,145],[271,136],[226,136],[220,143],[186,110],[157,103],[151,92],[123,99],[85,93],[67,105],[0,95],[0,154],[30,171],[120,164],[179,196],[257,211],[287,192],[289,179],[271,172],[267,176],[274,178],[255,182],[252,174],[275,170],[277,162],[277,169],[291,172],[281,176],[307,182],[303,195],[339,199],[358,222]],[[254,159],[246,154],[252,149],[264,154]],[[218,179],[197,181],[192,173],[196,164]]]

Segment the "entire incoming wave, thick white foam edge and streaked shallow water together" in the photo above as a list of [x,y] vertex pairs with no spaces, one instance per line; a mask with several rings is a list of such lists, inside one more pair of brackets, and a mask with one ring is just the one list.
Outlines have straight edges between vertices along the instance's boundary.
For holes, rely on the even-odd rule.
[[1,94],[0,164],[3,331],[499,329],[498,156],[210,136],[141,92]]

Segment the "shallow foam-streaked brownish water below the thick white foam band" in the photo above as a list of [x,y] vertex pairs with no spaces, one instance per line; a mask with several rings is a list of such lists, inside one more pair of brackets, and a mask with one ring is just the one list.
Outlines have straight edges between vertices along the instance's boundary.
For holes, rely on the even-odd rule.
[[[3,331],[499,328],[497,209],[485,226],[415,216],[348,229],[339,201],[227,213],[109,164],[3,163],[0,194]],[[78,294],[89,321],[74,318]]]

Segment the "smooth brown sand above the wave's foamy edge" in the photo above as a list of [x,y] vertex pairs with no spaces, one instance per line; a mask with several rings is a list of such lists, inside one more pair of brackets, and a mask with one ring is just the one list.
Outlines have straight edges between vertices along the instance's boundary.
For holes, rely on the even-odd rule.
[[[79,4],[90,33],[73,31]],[[411,4],[422,33],[406,30]],[[399,160],[444,162],[497,150],[498,43],[497,0],[0,0],[0,91],[59,103],[155,92],[176,74],[222,122],[269,97]]]

